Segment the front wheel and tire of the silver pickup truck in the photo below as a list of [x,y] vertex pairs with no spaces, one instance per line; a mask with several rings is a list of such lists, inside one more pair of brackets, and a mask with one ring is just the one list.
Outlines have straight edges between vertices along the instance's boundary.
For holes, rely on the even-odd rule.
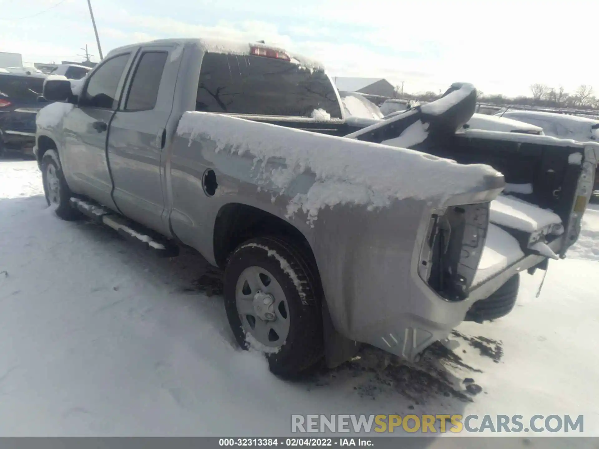
[[48,150],[41,159],[41,173],[44,183],[44,193],[49,207],[55,210],[63,220],[77,220],[81,217],[79,211],[71,207],[71,189],[66,184],[62,167],[56,150]]

